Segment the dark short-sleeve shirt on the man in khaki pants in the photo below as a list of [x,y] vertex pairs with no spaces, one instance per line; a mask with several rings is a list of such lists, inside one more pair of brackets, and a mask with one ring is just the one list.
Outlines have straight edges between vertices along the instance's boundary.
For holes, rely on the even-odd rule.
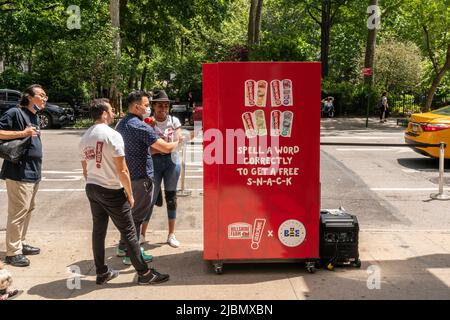
[[[39,117],[28,109],[11,108],[0,118],[0,130],[23,131],[31,124],[39,128]],[[31,138],[31,145],[19,163],[3,161],[0,179],[10,179],[21,182],[39,182],[42,170],[41,136]]]

